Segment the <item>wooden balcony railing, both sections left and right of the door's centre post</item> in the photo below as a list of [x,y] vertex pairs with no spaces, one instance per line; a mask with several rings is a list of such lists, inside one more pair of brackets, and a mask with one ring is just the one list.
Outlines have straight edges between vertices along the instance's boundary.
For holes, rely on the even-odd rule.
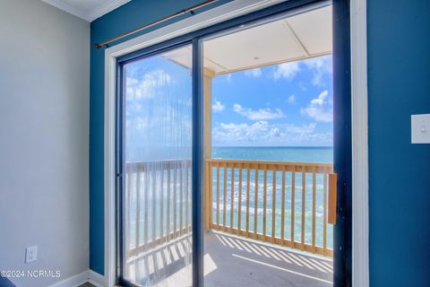
[[[127,257],[189,235],[191,161],[129,162],[125,170]],[[204,172],[206,229],[332,256],[331,164],[211,159]]]

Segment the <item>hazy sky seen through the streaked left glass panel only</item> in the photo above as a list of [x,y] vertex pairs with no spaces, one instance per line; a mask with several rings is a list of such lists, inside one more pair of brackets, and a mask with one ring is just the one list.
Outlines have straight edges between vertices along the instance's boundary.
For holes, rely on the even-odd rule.
[[190,158],[190,70],[165,57],[148,57],[126,64],[124,74],[127,161]]

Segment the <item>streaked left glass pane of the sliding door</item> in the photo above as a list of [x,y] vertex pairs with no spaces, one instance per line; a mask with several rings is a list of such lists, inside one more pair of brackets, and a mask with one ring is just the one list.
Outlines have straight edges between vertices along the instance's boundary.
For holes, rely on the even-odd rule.
[[192,47],[123,65],[122,274],[192,285]]

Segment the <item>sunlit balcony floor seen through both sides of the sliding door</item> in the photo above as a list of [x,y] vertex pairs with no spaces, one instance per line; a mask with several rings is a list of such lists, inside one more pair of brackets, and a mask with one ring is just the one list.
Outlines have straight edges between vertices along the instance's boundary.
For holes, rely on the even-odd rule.
[[[131,276],[145,286],[191,286],[189,240],[134,258],[128,265]],[[332,261],[210,230],[204,232],[204,280],[206,287],[330,287]]]

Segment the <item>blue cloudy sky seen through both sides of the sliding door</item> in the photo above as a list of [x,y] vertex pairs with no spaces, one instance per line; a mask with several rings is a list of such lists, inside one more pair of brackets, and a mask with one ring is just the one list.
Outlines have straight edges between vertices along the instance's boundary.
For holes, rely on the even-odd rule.
[[[331,146],[331,56],[215,76],[212,146]],[[129,159],[191,152],[192,77],[166,57],[125,65]]]

